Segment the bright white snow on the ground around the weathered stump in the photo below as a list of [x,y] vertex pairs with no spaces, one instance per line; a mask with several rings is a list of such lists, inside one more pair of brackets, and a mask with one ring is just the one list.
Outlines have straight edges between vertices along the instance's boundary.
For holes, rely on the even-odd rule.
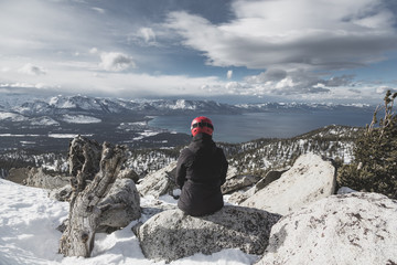
[[[170,198],[167,202],[174,203]],[[45,190],[0,179],[0,264],[165,264],[144,258],[138,239],[131,232],[137,221],[112,234],[97,234],[90,258],[63,257],[57,254],[61,232],[55,229],[67,218],[67,212],[68,203],[49,199]],[[237,265],[253,264],[258,258],[239,250],[224,250],[210,256],[196,254],[171,264]]]

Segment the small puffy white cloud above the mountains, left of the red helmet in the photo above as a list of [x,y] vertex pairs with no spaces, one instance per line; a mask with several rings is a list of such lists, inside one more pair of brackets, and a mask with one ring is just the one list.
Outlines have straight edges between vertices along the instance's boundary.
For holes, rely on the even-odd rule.
[[120,72],[129,67],[136,67],[131,56],[118,52],[100,54],[99,66],[106,71]]

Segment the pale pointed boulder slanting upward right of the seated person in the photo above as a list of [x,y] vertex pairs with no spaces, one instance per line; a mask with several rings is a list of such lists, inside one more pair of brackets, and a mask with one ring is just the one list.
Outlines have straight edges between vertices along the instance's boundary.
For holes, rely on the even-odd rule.
[[289,212],[333,194],[335,168],[314,153],[300,156],[285,172],[240,205],[286,215]]

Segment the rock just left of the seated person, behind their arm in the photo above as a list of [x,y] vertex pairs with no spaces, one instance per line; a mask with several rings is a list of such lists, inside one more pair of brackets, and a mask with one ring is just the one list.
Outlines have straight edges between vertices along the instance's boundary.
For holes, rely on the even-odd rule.
[[171,194],[172,190],[176,189],[175,184],[176,162],[171,162],[169,166],[149,173],[144,177],[137,189],[142,197],[152,195],[159,198],[164,194]]

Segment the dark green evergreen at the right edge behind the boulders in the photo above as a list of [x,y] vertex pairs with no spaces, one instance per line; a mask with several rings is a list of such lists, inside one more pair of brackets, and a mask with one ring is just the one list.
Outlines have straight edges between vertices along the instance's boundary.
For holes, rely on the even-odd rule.
[[[355,190],[378,192],[397,199],[397,116],[393,113],[397,93],[388,91],[384,105],[378,106],[373,120],[358,137],[354,160],[339,172],[339,184]],[[378,120],[380,110],[385,116]]]

